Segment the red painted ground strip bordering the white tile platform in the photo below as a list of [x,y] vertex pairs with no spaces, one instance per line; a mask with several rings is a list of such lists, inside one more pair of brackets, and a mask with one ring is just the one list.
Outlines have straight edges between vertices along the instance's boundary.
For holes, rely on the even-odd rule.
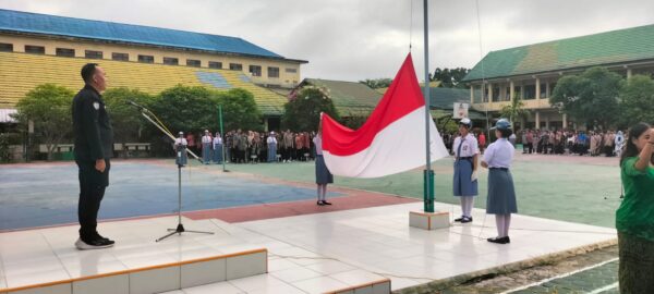
[[417,199],[412,198],[388,196],[363,191],[346,188],[334,188],[331,191],[346,194],[346,196],[327,199],[332,204],[331,206],[317,206],[316,200],[301,200],[189,211],[183,212],[183,216],[193,220],[219,219],[227,222],[243,222],[419,201]]

